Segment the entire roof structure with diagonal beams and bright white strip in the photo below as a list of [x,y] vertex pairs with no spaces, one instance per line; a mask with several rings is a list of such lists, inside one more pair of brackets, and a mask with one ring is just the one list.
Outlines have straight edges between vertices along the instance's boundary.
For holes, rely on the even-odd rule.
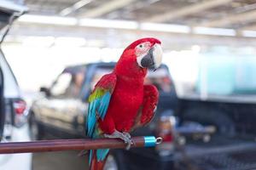
[[169,47],[256,46],[256,0],[24,0],[24,4],[29,13],[11,35],[84,37],[104,40],[101,47],[114,46],[117,39],[118,48],[126,40],[145,36],[160,37]]

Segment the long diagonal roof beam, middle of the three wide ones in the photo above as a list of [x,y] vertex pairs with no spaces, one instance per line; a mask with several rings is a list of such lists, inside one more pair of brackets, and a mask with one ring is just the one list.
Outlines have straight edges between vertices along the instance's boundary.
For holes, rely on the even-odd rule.
[[157,14],[151,18],[146,19],[148,22],[164,22],[166,20],[175,20],[177,18],[187,16],[189,14],[200,13],[201,11],[207,10],[208,8],[215,8],[226,3],[230,3],[233,0],[207,0],[193,5],[189,5],[183,8],[178,8],[177,10],[167,12],[164,14]]

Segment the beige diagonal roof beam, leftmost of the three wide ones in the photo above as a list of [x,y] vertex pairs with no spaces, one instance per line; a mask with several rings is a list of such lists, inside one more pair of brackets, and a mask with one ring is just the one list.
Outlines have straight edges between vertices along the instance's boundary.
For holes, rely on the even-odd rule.
[[106,1],[106,3],[103,3],[101,6],[98,6],[96,8],[91,8],[90,10],[87,10],[84,14],[79,14],[79,17],[80,18],[96,18],[98,16],[101,16],[102,14],[107,14],[116,9],[123,8],[135,1],[136,0],[113,0],[110,2]]

